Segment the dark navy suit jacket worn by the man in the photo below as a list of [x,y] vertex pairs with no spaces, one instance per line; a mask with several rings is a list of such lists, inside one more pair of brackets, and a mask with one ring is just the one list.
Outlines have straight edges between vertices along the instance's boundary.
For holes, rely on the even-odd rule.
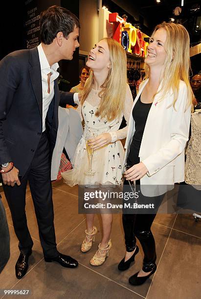
[[[46,116],[50,153],[58,129],[58,107],[74,105],[73,93],[59,91],[54,81],[54,97]],[[13,161],[23,175],[33,159],[42,134],[42,79],[38,49],[20,50],[0,61],[0,164]]]

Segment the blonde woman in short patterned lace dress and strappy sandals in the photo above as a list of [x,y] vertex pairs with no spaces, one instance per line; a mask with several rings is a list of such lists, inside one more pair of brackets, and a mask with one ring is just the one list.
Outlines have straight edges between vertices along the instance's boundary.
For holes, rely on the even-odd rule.
[[[70,186],[120,185],[124,149],[120,139],[127,135],[133,97],[127,84],[127,60],[123,47],[115,40],[105,38],[95,45],[89,53],[87,65],[90,67],[82,100],[78,106],[81,119],[84,118],[85,130],[77,146],[73,169],[62,174]],[[123,115],[127,127],[119,129]],[[94,149],[93,176],[85,175],[89,168],[86,150],[86,133],[95,131],[97,137],[90,140]],[[92,246],[97,228],[93,225],[94,214],[87,214],[87,229],[81,251],[87,252]],[[110,235],[112,214],[101,214],[103,235],[98,250],[90,260],[93,266],[104,263],[112,246]]]

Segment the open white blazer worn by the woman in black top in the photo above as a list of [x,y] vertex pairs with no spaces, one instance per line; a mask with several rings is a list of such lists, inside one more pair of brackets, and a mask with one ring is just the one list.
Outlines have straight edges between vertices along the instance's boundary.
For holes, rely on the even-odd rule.
[[[140,85],[133,107],[148,81],[149,79]],[[139,150],[140,161],[148,169],[140,179],[141,191],[146,196],[163,194],[173,189],[174,183],[184,181],[184,149],[189,138],[191,117],[191,107],[185,111],[187,86],[180,80],[175,108],[169,107],[173,103],[171,91],[162,101],[157,101],[159,96],[160,94],[156,95],[150,108]],[[124,163],[135,131],[133,107],[125,143]]]

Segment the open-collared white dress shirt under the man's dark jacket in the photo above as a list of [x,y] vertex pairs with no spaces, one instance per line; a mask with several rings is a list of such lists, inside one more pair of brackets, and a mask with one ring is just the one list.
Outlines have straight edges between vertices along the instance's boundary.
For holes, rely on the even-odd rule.
[[[40,43],[38,45],[38,52],[39,52],[39,60],[41,64],[41,77],[42,77],[42,92],[43,92],[43,132],[45,131],[45,118],[47,115],[48,107],[54,97],[54,80],[58,78],[59,72],[57,72],[57,69],[59,68],[59,64],[55,63],[52,64],[50,67],[47,58],[45,56],[42,44]],[[48,83],[47,83],[47,75],[51,73],[50,76],[50,90],[49,93],[48,90]],[[74,102],[76,104],[79,103],[78,99],[78,93],[75,93],[73,96]]]

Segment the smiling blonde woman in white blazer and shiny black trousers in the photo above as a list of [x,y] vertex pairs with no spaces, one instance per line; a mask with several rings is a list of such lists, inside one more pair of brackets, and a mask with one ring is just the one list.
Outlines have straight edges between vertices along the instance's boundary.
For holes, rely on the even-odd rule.
[[[139,249],[143,267],[129,278],[140,285],[156,271],[156,246],[151,232],[165,192],[184,181],[184,149],[188,141],[192,107],[189,83],[189,35],[180,24],[163,22],[156,26],[148,46],[146,79],[141,83],[129,120],[124,163],[124,191],[130,181],[140,185],[140,203],[154,203],[150,214],[122,215],[126,254],[118,265],[127,270]],[[132,200],[131,200],[132,201]],[[146,213],[146,212],[145,212]]]

